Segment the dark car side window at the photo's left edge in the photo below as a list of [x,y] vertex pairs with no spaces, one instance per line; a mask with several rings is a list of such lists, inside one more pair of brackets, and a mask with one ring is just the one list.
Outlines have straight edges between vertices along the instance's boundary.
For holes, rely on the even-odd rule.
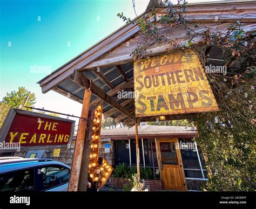
[[33,169],[20,170],[0,175],[0,191],[34,191]]

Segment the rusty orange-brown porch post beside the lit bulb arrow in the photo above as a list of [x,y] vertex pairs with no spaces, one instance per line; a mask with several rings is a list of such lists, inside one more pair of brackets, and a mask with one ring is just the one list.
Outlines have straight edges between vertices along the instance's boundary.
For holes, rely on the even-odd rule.
[[[81,117],[87,119],[89,113],[89,105],[91,99],[91,85],[88,89],[84,90],[84,100]],[[85,141],[85,132],[86,132],[86,124],[87,121],[84,119],[79,120],[79,126],[77,131],[77,140],[75,145],[75,150],[73,154],[72,168],[70,173],[69,180],[69,191],[78,191],[78,182],[80,169],[82,164],[82,154],[84,149],[84,141]]]

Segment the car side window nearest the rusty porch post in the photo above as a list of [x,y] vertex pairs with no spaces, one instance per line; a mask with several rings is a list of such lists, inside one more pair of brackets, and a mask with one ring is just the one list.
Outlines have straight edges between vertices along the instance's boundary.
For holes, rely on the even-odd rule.
[[70,169],[64,166],[45,166],[41,168],[43,190],[51,189],[69,182]]

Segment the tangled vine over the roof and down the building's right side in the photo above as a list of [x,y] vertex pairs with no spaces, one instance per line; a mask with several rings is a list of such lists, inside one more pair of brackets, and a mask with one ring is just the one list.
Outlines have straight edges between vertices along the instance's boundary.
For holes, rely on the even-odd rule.
[[[218,19],[213,25],[194,23],[186,18],[186,1],[162,2],[166,10],[158,15],[152,9],[145,16],[131,20],[119,13],[127,24],[139,25],[137,46],[131,55],[134,60],[152,56],[153,43],[167,44],[167,50],[194,50],[203,66],[208,63],[211,47],[221,50],[227,73],[206,73],[213,89],[219,112],[194,114],[199,137],[195,140],[206,156],[208,178],[206,190],[255,190],[255,33],[242,29],[239,20],[225,32],[218,30]],[[161,34],[167,27],[183,25],[188,36],[173,39]]]

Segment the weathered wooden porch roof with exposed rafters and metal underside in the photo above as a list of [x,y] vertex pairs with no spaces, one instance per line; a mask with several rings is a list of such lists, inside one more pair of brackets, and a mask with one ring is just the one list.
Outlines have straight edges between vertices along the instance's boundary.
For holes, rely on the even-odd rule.
[[[157,8],[160,16],[165,7]],[[146,11],[145,13],[149,12]],[[144,16],[143,13],[141,16]],[[218,17],[218,22],[215,17]],[[225,32],[227,26],[240,19],[242,27],[247,32],[256,31],[256,4],[250,2],[230,3],[205,3],[188,4],[186,17],[200,25],[218,27]],[[116,122],[122,121],[125,125],[132,126],[135,120],[134,100],[119,99],[117,93],[120,90],[133,90],[133,58],[131,52],[137,44],[139,27],[136,24],[126,24],[113,32],[105,39],[79,54],[50,75],[38,81],[42,92],[49,90],[70,96],[70,99],[83,102],[84,89],[92,81],[91,105],[99,101],[103,103],[104,117],[113,117]],[[183,40],[187,37],[183,25],[165,27],[160,33],[171,38]],[[200,41],[200,40],[198,40]],[[152,55],[161,54],[172,50],[166,43],[152,43],[150,51]],[[209,64],[218,65],[221,53],[218,48],[212,47],[208,52]],[[221,62],[219,62],[221,63]],[[99,69],[97,71],[97,69]],[[172,117],[176,119],[177,116]],[[180,118],[180,117],[179,117]]]

